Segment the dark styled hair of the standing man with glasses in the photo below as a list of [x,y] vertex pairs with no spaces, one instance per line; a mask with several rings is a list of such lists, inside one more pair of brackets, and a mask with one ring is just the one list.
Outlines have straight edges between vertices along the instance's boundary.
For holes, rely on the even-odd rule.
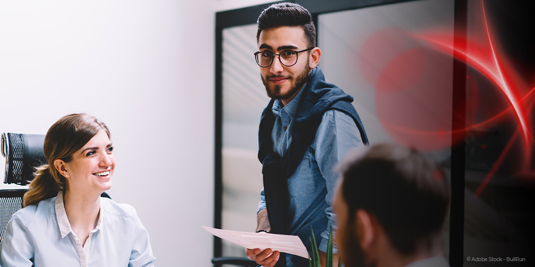
[[310,12],[301,5],[294,3],[272,4],[260,13],[256,23],[258,25],[256,42],[258,42],[262,30],[280,26],[301,27],[307,38],[308,48],[316,47],[316,26],[312,22]]

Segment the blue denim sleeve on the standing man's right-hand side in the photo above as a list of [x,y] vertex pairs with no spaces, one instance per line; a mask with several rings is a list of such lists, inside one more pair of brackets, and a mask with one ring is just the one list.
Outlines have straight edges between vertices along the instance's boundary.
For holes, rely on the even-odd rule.
[[[341,175],[335,171],[338,163],[349,151],[358,147],[364,147],[360,131],[351,116],[337,110],[330,110],[323,114],[322,123],[319,124],[316,138],[311,147],[315,150],[316,161],[319,171],[325,178],[327,195],[325,201],[328,207],[325,214],[328,218],[326,229],[322,232],[322,241],[319,250],[327,251],[328,237],[332,225],[336,230],[336,215],[333,213],[334,192]],[[333,232],[334,235],[334,232]],[[337,253],[338,248],[333,246],[333,253]]]

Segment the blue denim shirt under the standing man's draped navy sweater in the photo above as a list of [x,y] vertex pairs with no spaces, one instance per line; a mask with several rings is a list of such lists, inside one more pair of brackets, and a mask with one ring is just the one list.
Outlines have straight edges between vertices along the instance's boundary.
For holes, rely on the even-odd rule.
[[[303,87],[304,88],[304,87]],[[303,90],[284,106],[280,100],[273,104],[276,116],[271,132],[273,151],[282,157],[292,142],[293,118]],[[314,142],[308,147],[294,174],[288,178],[289,208],[288,216],[292,218],[289,232],[295,233],[303,225],[300,220],[313,200],[323,197],[321,207],[315,208],[315,214],[309,216],[327,216],[328,224],[322,232],[319,250],[327,251],[330,225],[336,229],[336,217],[333,213],[333,198],[340,174],[334,170],[337,164],[351,150],[364,147],[360,131],[355,121],[347,114],[330,110],[323,114],[322,123],[316,131]],[[258,211],[266,208],[264,190],[260,193]],[[308,230],[310,231],[310,230]],[[333,233],[334,234],[334,233]],[[333,253],[337,248],[333,247]]]

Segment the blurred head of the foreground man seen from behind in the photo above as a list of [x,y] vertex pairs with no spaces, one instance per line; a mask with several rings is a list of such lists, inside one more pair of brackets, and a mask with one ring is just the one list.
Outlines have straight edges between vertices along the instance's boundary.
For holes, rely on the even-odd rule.
[[350,156],[341,168],[335,240],[346,266],[380,265],[385,256],[418,260],[441,253],[437,237],[449,205],[449,186],[430,158],[380,144]]

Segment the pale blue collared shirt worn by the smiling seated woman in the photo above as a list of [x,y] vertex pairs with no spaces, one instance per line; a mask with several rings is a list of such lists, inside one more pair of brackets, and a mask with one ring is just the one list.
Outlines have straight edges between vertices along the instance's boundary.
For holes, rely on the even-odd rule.
[[63,194],[17,211],[0,243],[0,266],[154,266],[149,234],[132,206],[101,198],[97,226],[82,246]]

